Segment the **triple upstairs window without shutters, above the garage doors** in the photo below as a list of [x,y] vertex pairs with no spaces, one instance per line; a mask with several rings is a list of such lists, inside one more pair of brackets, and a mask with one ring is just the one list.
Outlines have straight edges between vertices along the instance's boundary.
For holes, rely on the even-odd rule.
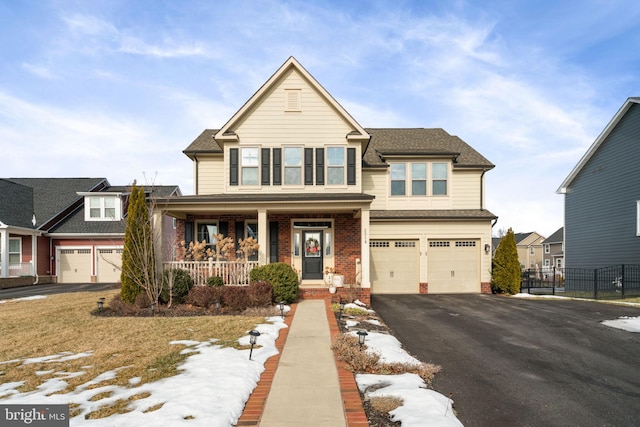
[[449,165],[447,163],[391,163],[390,174],[392,196],[446,196],[448,194]]

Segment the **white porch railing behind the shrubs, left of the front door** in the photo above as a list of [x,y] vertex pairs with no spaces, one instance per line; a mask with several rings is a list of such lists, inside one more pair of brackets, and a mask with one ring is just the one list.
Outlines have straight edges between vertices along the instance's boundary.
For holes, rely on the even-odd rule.
[[181,269],[189,273],[194,285],[206,285],[211,276],[222,277],[225,285],[245,286],[249,284],[249,273],[258,266],[258,261],[171,261],[163,263],[165,270]]

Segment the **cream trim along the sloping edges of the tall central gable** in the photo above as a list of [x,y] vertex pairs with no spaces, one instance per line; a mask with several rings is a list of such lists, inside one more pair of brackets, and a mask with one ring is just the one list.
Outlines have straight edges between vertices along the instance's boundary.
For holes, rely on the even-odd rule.
[[280,68],[258,89],[258,91],[253,94],[251,98],[229,119],[227,123],[225,123],[222,128],[220,128],[216,134],[215,139],[218,141],[222,140],[232,140],[236,141],[238,136],[235,134],[235,126],[236,124],[244,117],[244,115],[249,112],[254,105],[256,105],[262,97],[269,92],[269,90],[291,69],[295,69],[299,72],[303,78],[305,78],[309,84],[318,91],[320,96],[322,96],[325,101],[327,101],[335,110],[338,112],[342,118],[349,123],[349,125],[354,129],[347,138],[349,139],[368,139],[369,135],[367,132],[360,126],[360,124],[353,118],[351,115],[345,110],[338,101],[336,101],[333,96],[327,90],[322,87],[320,83],[293,57],[290,56]]

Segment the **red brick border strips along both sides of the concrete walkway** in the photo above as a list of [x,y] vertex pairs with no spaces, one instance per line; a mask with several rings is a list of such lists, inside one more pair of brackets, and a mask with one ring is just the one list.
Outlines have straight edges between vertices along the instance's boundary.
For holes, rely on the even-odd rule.
[[[296,312],[298,304],[292,304],[291,310],[287,313],[285,323],[288,328],[280,329],[280,334],[276,340],[276,348],[278,354],[270,357],[264,365],[264,372],[260,375],[260,381],[258,385],[251,393],[247,404],[244,407],[244,411],[236,424],[237,427],[257,427],[260,425],[260,417],[262,417],[262,411],[264,405],[267,402],[267,396],[271,390],[271,384],[273,383],[273,377],[276,374],[278,363],[280,362],[280,355],[284,349],[284,345],[287,342],[289,336],[289,330],[291,329],[291,322]],[[340,333],[338,328],[338,322],[336,316],[331,310],[331,301],[325,299],[325,307],[327,313],[327,320],[329,321],[329,331],[331,333],[331,339]],[[340,392],[342,394],[342,404],[345,410],[345,417],[347,419],[347,427],[368,427],[369,421],[367,420],[367,414],[362,407],[362,401],[360,399],[360,393],[358,392],[358,386],[356,384],[353,372],[347,369],[344,362],[336,360],[336,367],[338,368],[338,379],[340,381]]]

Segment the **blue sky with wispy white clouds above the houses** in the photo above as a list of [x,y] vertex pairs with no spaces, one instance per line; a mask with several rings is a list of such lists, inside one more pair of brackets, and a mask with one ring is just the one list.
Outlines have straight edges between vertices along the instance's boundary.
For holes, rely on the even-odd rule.
[[495,226],[549,236],[556,189],[640,96],[640,2],[0,1],[2,177],[180,185],[182,154],[295,56],[364,127],[441,127],[496,165]]

